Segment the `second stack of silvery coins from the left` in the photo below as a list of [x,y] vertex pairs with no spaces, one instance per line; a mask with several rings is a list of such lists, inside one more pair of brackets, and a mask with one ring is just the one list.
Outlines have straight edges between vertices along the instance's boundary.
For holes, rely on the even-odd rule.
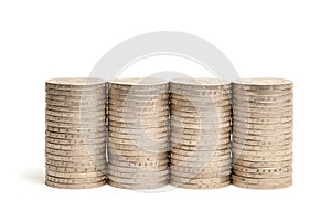
[[113,187],[169,183],[169,83],[121,78],[109,84],[108,179]]

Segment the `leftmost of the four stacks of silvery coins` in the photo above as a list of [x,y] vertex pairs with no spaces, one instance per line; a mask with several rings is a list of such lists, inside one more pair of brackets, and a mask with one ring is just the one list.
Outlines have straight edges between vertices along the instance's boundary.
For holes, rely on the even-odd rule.
[[106,183],[106,82],[46,81],[45,183],[84,189]]

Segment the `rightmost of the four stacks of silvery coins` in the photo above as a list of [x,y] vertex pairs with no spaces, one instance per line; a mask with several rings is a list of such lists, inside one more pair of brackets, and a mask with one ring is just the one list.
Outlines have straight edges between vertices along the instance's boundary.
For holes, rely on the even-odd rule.
[[279,189],[292,183],[292,83],[233,82],[233,185]]

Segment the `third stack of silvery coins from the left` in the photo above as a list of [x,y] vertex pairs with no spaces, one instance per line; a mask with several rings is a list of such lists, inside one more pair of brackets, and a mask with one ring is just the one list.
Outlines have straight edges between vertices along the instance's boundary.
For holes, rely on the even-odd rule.
[[229,87],[216,78],[170,82],[172,186],[215,189],[229,185]]

